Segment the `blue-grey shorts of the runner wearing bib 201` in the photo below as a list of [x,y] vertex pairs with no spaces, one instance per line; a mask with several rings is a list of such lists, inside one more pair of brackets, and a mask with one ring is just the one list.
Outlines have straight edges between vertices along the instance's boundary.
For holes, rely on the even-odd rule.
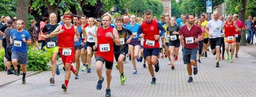
[[187,49],[186,47],[183,48],[183,61],[184,64],[189,64],[190,59],[197,60],[198,56],[198,48],[196,49]]

